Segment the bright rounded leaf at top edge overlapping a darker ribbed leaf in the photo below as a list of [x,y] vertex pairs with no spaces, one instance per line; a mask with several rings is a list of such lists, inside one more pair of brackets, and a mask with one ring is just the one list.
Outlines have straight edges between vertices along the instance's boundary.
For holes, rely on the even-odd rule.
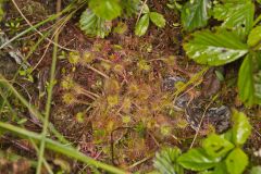
[[89,8],[103,20],[113,20],[121,15],[122,8],[117,0],[90,0]]

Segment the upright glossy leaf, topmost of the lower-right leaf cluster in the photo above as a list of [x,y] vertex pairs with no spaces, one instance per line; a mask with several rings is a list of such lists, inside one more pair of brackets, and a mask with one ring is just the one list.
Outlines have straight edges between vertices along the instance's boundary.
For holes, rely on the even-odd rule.
[[233,111],[233,142],[235,145],[244,145],[251,134],[251,125],[248,117],[236,110]]

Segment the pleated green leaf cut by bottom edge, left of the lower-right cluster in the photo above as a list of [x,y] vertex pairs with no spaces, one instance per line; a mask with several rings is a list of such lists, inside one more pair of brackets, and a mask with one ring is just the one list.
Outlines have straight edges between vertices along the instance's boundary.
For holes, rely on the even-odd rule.
[[156,153],[154,167],[163,174],[184,174],[184,169],[176,162],[182,151],[175,148],[165,148]]

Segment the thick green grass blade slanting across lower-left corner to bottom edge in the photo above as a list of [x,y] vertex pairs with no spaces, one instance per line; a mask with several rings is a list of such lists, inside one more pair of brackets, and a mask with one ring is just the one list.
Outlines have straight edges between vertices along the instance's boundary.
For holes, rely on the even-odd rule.
[[[11,125],[8,123],[3,123],[3,122],[0,122],[0,128],[12,132],[12,133],[18,135],[20,137],[32,138],[36,142],[39,142],[42,138],[42,135],[40,135],[40,134],[36,134],[34,132],[29,132],[24,128],[20,128],[17,126],[14,126],[14,125]],[[64,145],[62,145],[58,141],[54,141],[50,138],[46,138],[46,147],[47,147],[47,149],[50,149],[55,152],[62,153],[64,156],[71,157],[75,160],[84,162],[85,164],[105,170],[113,174],[127,174],[127,172],[125,172],[121,169],[117,169],[115,166],[105,164],[105,163],[97,161],[97,160],[94,160],[94,159],[85,156],[84,153],[79,152],[78,150],[76,150],[72,147],[69,147],[69,146],[64,146]]]

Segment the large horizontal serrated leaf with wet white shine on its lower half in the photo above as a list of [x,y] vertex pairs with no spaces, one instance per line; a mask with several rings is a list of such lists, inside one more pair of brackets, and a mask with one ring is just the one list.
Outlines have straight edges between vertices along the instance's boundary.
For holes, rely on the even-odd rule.
[[184,49],[190,59],[209,65],[223,65],[248,52],[247,46],[226,30],[196,32],[194,38],[184,45]]

